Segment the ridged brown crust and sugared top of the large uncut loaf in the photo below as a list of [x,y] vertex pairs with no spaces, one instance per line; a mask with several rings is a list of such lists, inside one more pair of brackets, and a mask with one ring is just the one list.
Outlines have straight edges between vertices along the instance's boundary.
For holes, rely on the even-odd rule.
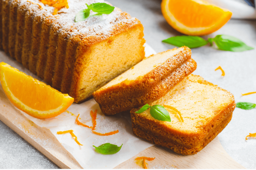
[[[107,44],[106,42],[117,35],[125,36],[135,27],[140,27],[139,30],[143,35],[141,23],[118,8],[109,15],[95,16],[91,11],[92,15],[85,21],[74,21],[75,15],[81,9],[87,8],[86,3],[105,2],[103,0],[71,0],[69,8],[62,8],[57,15],[52,15],[54,7],[44,5],[39,0],[0,1],[2,21],[0,39],[4,51],[7,54],[10,52],[10,55],[24,67],[54,88],[69,93],[75,98],[75,102],[85,100],[92,93],[91,90],[81,92],[83,87],[79,83],[84,75],[80,75],[83,72],[76,72],[76,70],[80,70],[80,60],[88,58],[85,54],[88,56],[97,54],[97,51],[91,50],[93,46]],[[127,38],[131,39],[131,37]],[[104,82],[94,84],[93,89],[99,88],[144,57],[143,36],[136,41],[139,41],[138,49],[133,46],[134,51],[138,53],[134,56],[136,59],[129,63],[129,58],[126,57],[124,62],[128,63],[124,63],[124,67],[115,68],[114,75],[109,75],[106,80],[101,79],[100,81]],[[104,62],[104,58],[100,62]]]

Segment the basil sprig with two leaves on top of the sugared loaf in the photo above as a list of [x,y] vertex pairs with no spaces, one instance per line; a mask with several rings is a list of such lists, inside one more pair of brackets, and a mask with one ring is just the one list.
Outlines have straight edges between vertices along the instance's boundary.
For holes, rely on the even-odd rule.
[[110,14],[114,11],[114,9],[115,7],[106,3],[93,3],[91,5],[87,5],[87,9],[82,9],[76,14],[75,22],[84,21],[86,18],[88,18],[90,15],[90,10],[97,12],[98,14]]

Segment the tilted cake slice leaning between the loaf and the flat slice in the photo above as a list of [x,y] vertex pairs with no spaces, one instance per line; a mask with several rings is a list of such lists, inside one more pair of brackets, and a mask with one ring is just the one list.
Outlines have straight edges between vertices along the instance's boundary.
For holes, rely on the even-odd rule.
[[140,107],[163,97],[196,69],[191,50],[174,48],[142,60],[93,93],[105,115]]

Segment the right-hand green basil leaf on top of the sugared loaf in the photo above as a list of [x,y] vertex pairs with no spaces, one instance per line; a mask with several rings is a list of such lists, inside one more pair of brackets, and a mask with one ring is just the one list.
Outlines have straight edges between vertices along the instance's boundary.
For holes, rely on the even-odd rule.
[[[87,4],[86,4],[87,5]],[[91,5],[87,5],[88,9],[92,10],[93,12],[97,12],[100,14],[110,14],[114,11],[115,7],[108,5],[106,3],[93,3]]]

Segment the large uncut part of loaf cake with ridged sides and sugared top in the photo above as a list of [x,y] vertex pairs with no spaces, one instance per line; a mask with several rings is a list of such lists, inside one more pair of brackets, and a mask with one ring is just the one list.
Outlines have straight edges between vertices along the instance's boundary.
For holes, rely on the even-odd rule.
[[142,24],[117,7],[75,22],[86,4],[98,2],[108,3],[69,0],[53,15],[39,0],[0,0],[0,48],[80,103],[145,56]]

